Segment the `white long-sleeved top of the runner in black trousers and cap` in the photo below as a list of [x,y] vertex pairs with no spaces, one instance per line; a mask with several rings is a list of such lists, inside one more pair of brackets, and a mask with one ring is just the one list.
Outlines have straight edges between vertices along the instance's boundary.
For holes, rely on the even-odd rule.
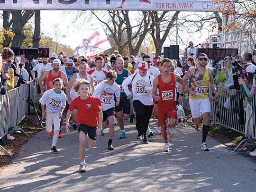
[[[135,76],[135,77],[134,77]],[[132,80],[132,78],[134,79]],[[122,83],[122,87],[126,95],[131,92],[128,89],[128,85],[132,83],[132,95],[133,101],[139,100],[143,105],[153,105],[152,89],[153,89],[154,77],[146,74],[142,77],[139,73],[128,76]],[[142,85],[146,85],[145,88]]]

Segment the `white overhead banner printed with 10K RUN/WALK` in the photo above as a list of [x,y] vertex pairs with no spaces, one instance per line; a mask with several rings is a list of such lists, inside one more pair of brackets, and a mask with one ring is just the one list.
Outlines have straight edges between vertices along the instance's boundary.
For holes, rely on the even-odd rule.
[[0,10],[216,11],[214,0],[0,0]]

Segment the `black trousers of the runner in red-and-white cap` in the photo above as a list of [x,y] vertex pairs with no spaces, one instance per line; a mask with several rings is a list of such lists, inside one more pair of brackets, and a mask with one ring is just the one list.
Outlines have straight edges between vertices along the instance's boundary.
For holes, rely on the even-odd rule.
[[153,105],[143,105],[139,100],[134,100],[133,107],[136,112],[138,134],[143,134],[144,137],[146,137],[146,131],[152,114]]

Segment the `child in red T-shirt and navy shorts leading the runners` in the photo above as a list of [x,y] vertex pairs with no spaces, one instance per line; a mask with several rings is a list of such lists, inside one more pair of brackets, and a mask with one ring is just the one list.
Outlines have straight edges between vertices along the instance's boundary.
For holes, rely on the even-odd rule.
[[90,95],[91,85],[85,79],[80,79],[73,84],[80,96],[75,98],[69,106],[66,115],[66,131],[69,132],[69,119],[73,109],[77,109],[78,133],[79,133],[79,156],[81,159],[79,172],[85,172],[85,142],[89,148],[95,146],[97,136],[101,132],[103,114],[101,100]]

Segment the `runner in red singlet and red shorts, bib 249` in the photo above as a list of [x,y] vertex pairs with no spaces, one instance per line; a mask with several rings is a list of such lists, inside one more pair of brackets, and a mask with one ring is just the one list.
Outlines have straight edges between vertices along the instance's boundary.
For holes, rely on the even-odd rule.
[[[158,75],[153,82],[152,97],[158,101],[158,122],[161,125],[161,134],[163,136],[165,147],[163,151],[169,151],[169,142],[166,134],[166,119],[169,118],[168,135],[173,137],[173,127],[177,122],[177,111],[175,102],[176,82],[183,84],[183,80],[179,75],[170,72],[173,63],[170,59],[164,58],[161,61],[162,73]],[[159,89],[159,96],[156,90]]]

